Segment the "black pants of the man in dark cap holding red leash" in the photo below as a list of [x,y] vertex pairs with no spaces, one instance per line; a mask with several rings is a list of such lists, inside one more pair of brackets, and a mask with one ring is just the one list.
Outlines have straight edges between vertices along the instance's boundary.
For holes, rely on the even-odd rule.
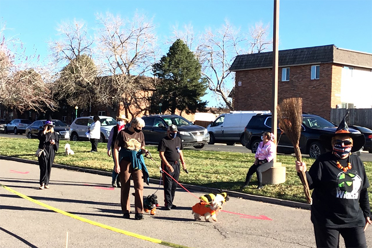
[[[169,171],[165,164],[161,164],[161,168],[163,171],[166,171],[168,174],[171,175],[175,180],[178,181],[180,178],[180,162],[169,162],[171,167],[173,167],[173,172]],[[174,195],[176,193],[177,183],[171,179],[166,173],[163,173],[163,182],[164,182],[164,202],[166,207],[173,206]]]

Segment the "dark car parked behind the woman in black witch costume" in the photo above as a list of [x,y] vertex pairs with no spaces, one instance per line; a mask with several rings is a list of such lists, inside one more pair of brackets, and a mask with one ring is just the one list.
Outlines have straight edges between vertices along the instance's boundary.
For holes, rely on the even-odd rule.
[[[26,128],[26,136],[29,139],[37,138],[40,130],[43,130],[44,123],[47,120],[34,121],[31,125]],[[57,133],[60,140],[70,139],[70,127],[64,124],[60,120],[53,120],[54,131]]]

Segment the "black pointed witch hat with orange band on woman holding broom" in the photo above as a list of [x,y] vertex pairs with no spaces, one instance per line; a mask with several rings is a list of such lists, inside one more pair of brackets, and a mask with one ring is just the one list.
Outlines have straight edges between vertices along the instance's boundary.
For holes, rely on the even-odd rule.
[[340,125],[337,127],[335,133],[333,134],[322,134],[320,136],[320,140],[323,142],[323,145],[326,149],[332,150],[332,137],[338,135],[338,136],[347,136],[353,139],[353,147],[351,148],[351,152],[357,152],[359,151],[365,144],[366,139],[364,138],[364,135],[359,133],[350,133],[349,127],[346,124],[346,117],[349,114],[349,112],[346,113],[346,115],[343,117],[343,120],[341,121]]

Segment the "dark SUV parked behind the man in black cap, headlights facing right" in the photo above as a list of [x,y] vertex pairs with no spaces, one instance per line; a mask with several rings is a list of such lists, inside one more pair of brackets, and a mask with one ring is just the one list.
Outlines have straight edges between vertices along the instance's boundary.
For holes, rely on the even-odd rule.
[[209,142],[209,134],[205,127],[194,125],[182,116],[171,115],[146,115],[141,117],[145,121],[142,132],[146,144],[157,145],[161,139],[167,136],[168,125],[177,126],[178,134],[185,147],[193,146],[202,149]]

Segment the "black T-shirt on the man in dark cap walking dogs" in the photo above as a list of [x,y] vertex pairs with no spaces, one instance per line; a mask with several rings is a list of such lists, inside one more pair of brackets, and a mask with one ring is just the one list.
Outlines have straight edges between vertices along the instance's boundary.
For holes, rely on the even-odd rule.
[[159,145],[157,146],[157,151],[164,152],[165,159],[167,159],[168,162],[180,160],[179,150],[183,149],[182,141],[178,136],[172,140],[167,135],[160,140]]

